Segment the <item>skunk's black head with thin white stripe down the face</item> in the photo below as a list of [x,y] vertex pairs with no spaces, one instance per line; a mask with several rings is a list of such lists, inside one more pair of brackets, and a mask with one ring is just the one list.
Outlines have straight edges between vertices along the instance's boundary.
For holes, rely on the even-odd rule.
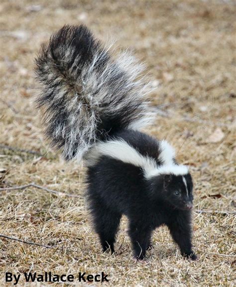
[[190,210],[193,207],[193,182],[186,175],[160,175],[155,179],[155,193],[176,209]]

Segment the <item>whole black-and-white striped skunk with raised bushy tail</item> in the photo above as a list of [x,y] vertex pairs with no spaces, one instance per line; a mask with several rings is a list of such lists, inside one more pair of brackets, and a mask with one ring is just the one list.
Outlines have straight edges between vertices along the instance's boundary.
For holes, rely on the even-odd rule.
[[124,214],[135,258],[144,258],[152,231],[165,224],[181,254],[195,260],[188,168],[166,141],[139,131],[152,120],[143,66],[127,51],[112,57],[84,25],[66,25],[41,47],[35,70],[47,138],[65,160],[87,166],[87,197],[103,250],[114,252]]

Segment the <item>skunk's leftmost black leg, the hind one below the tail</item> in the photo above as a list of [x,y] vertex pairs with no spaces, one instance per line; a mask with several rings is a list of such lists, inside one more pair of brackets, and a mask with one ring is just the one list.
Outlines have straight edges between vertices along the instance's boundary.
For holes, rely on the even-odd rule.
[[114,253],[114,243],[118,231],[121,214],[114,212],[104,204],[95,204],[93,206],[92,215],[95,225],[95,231],[98,233],[103,251],[111,249]]

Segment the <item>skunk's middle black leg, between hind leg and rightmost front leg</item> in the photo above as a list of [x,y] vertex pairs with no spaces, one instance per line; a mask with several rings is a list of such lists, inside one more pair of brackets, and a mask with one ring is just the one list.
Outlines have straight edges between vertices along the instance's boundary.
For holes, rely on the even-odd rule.
[[128,233],[131,238],[134,257],[143,260],[151,240],[150,226],[130,222]]

